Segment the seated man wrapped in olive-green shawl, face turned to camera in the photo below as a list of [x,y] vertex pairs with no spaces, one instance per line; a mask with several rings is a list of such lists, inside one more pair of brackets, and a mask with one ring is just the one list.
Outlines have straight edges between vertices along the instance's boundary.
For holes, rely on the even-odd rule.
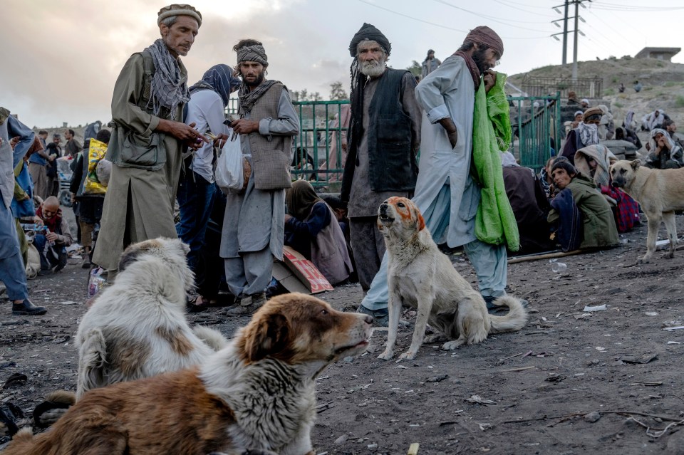
[[[572,199],[581,213],[584,239],[579,246],[580,249],[618,245],[620,239],[613,211],[606,198],[596,188],[594,180],[577,172],[577,169],[565,160],[554,162],[551,176],[556,188],[567,188],[571,191]],[[551,209],[548,221],[559,221],[556,209]]]

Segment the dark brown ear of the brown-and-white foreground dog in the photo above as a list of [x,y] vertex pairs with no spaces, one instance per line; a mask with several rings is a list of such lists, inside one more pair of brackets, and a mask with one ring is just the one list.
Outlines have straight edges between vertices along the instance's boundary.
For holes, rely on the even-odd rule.
[[280,313],[264,316],[249,324],[245,330],[243,348],[248,362],[257,362],[287,347],[290,325],[287,318]]

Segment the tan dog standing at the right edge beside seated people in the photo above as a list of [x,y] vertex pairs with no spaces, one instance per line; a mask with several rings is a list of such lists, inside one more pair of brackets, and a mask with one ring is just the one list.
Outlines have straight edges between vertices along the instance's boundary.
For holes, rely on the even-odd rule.
[[665,257],[675,256],[677,224],[675,210],[684,210],[684,168],[650,169],[641,166],[641,160],[623,159],[611,166],[613,187],[621,188],[641,204],[648,220],[646,254],[637,263],[651,261],[655,253],[660,221],[665,223],[670,240],[670,251]]

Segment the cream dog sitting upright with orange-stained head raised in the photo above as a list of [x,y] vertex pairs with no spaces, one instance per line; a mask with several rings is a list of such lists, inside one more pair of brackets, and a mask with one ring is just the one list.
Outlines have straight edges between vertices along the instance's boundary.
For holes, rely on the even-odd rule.
[[452,266],[432,240],[418,207],[404,197],[390,197],[378,209],[378,229],[385,236],[389,258],[389,332],[387,349],[378,358],[394,354],[402,305],[418,308],[413,340],[399,359],[412,360],[423,344],[425,326],[440,332],[425,342],[447,338],[442,349],[452,350],[465,343],[482,342],[489,333],[520,330],[527,323],[527,311],[517,298],[499,297],[509,313],[492,316],[484,299]]

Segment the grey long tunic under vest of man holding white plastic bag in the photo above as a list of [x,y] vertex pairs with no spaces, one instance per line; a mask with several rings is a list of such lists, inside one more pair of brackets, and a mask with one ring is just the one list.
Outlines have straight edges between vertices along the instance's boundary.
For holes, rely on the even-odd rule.
[[[249,113],[244,118],[251,120]],[[283,90],[278,102],[278,115],[259,119],[259,134],[294,136],[299,133],[299,116],[290,95]],[[247,137],[240,137],[242,155],[251,163],[252,150]],[[285,236],[285,190],[254,188],[254,172],[244,194],[230,191],[221,235],[222,258],[237,258],[241,253],[261,251],[266,246],[276,258],[283,258]]]

